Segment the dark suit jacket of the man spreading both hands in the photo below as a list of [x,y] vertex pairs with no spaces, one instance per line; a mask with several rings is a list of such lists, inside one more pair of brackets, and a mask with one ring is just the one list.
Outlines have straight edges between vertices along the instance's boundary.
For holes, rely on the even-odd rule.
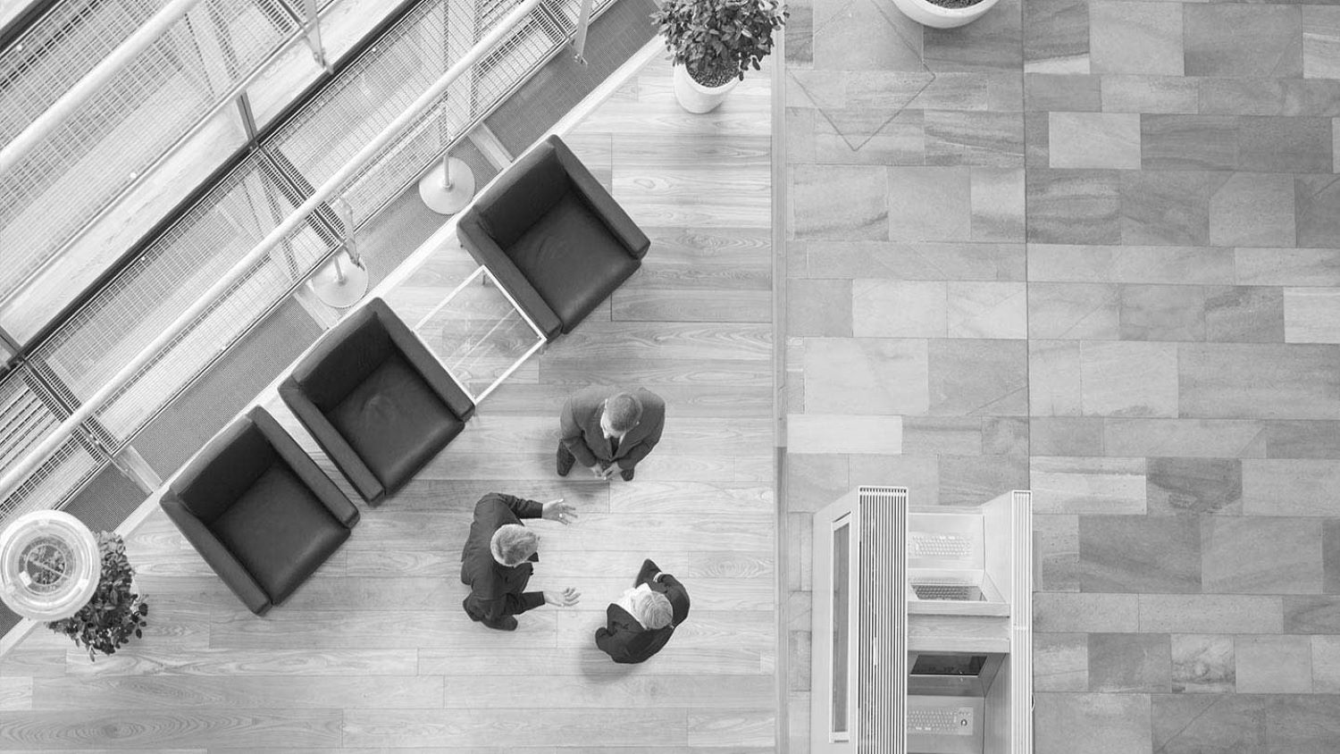
[[493,532],[504,524],[521,524],[521,518],[540,518],[544,504],[523,500],[503,493],[489,493],[474,504],[474,521],[470,522],[470,536],[461,550],[461,583],[470,585],[465,597],[465,612],[474,620],[498,620],[507,615],[520,615],[544,604],[544,592],[527,592],[531,580],[532,562],[539,562],[539,553],[529,561],[508,568],[493,560],[489,542]]

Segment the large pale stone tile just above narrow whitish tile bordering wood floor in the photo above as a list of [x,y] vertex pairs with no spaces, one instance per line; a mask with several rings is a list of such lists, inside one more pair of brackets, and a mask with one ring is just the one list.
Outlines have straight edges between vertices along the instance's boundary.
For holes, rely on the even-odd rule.
[[925,414],[930,404],[925,340],[812,337],[804,364],[807,412]]

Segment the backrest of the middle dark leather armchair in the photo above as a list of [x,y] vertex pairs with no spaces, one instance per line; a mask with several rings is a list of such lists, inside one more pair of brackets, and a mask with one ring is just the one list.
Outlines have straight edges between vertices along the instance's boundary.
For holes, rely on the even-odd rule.
[[335,325],[293,368],[293,379],[322,411],[330,411],[393,354],[375,307],[363,307]]

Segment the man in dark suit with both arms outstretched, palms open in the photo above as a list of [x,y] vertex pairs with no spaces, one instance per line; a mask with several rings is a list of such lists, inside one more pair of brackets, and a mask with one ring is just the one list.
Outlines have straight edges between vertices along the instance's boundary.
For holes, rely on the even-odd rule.
[[571,607],[582,597],[571,587],[563,592],[527,592],[532,564],[540,561],[540,537],[521,518],[548,518],[571,524],[574,506],[561,500],[540,504],[503,493],[489,493],[474,504],[470,536],[461,550],[461,583],[470,587],[461,605],[470,620],[496,631],[516,631],[516,615],[543,604]]

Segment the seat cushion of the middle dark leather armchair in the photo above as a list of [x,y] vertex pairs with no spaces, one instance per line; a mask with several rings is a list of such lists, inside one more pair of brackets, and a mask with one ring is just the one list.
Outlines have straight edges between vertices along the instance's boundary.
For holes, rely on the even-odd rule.
[[399,354],[393,354],[327,417],[389,490],[414,477],[465,427]]

